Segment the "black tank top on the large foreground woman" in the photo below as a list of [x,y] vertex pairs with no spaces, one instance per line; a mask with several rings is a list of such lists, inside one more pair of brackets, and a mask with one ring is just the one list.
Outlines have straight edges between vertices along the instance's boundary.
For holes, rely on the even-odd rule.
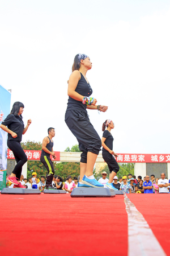
[[[89,96],[91,96],[91,94],[93,92],[92,88],[91,88],[90,84],[88,84],[88,82],[86,81],[86,79],[84,78],[82,73],[80,73],[80,75],[81,75],[81,78],[76,86],[75,92],[77,92],[83,96],[89,97]],[[80,110],[80,111],[87,113],[86,108],[87,108],[87,106],[84,105],[82,103],[82,101],[76,101],[76,100],[74,100],[74,98],[71,98],[69,96],[69,100],[67,103],[67,110]]]

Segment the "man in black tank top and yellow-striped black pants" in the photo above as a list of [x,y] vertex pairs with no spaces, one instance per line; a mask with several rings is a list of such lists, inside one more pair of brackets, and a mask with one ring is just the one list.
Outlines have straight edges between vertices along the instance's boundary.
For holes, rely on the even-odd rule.
[[53,137],[55,136],[55,130],[53,127],[48,128],[48,136],[46,136],[42,141],[42,151],[40,161],[44,164],[48,174],[46,175],[46,185],[45,189],[54,189],[52,186],[52,181],[54,177],[54,165],[52,160],[50,159],[50,155],[56,159],[55,152],[53,151]]

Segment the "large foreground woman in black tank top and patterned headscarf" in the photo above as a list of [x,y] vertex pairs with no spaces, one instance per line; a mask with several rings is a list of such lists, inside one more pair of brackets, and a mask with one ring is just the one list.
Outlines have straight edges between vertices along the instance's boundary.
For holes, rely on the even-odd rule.
[[69,78],[69,100],[65,114],[65,122],[79,142],[80,151],[80,180],[78,187],[103,187],[93,175],[94,164],[101,147],[101,140],[90,123],[86,109],[107,111],[104,105],[97,106],[97,100],[90,98],[92,88],[86,73],[92,68],[90,58],[84,54],[75,56],[72,67],[73,73]]

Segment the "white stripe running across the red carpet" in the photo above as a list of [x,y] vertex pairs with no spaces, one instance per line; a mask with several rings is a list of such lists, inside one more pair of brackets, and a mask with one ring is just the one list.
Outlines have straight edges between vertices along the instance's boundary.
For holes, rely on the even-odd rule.
[[162,246],[160,246],[145,218],[126,194],[125,204],[128,213],[128,256],[165,256]]

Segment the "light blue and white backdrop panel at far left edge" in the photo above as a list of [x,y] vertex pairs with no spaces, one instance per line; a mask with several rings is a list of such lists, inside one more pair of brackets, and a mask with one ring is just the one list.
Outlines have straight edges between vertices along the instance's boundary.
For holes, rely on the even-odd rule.
[[[0,85],[0,125],[10,114],[11,93]],[[7,133],[0,128],[0,170],[7,168]]]

